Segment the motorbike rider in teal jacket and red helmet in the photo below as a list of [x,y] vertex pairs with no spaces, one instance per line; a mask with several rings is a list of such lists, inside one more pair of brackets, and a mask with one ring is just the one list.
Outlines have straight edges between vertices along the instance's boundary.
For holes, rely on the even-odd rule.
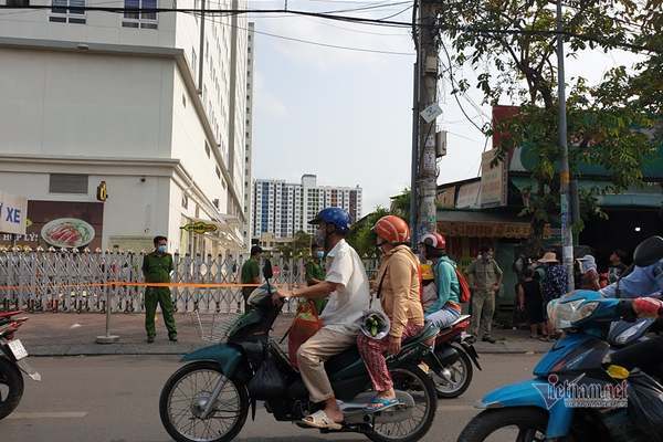
[[433,262],[438,298],[427,305],[425,319],[444,328],[461,316],[461,285],[455,273],[456,263],[446,256],[446,240],[440,233],[427,233],[419,243],[421,253]]

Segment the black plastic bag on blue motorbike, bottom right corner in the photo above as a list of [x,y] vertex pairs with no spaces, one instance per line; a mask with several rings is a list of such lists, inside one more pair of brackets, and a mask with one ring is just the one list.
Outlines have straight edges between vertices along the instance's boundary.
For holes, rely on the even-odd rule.
[[643,371],[629,376],[629,417],[635,425],[650,436],[662,442],[663,433],[663,386]]

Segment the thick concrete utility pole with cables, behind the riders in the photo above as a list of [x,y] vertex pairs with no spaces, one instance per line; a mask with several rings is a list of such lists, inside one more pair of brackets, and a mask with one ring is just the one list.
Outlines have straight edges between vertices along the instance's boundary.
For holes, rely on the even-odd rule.
[[[435,15],[439,2],[419,1],[419,27],[417,45],[417,90],[419,97],[415,108],[417,136],[417,179],[413,180],[412,198],[417,204],[417,218],[412,228],[412,241],[415,243],[422,234],[436,231],[438,164],[435,151],[435,118],[422,119],[420,112],[438,103],[438,53]],[[412,156],[414,159],[414,155]],[[412,168],[414,172],[414,168]],[[417,199],[414,200],[414,197]]]

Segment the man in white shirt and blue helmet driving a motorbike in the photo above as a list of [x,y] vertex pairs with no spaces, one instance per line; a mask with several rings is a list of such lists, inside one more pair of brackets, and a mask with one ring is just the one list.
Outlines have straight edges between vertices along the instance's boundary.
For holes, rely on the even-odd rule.
[[274,296],[329,297],[320,315],[324,326],[299,347],[297,362],[311,401],[324,402],[324,409],[306,417],[303,423],[338,430],[343,412],[336,403],[325,362],[356,344],[361,316],[369,305],[369,284],[364,263],[345,240],[350,229],[348,213],[339,208],[323,209],[311,223],[317,225],[315,241],[327,252],[325,281],[290,293],[278,291]]

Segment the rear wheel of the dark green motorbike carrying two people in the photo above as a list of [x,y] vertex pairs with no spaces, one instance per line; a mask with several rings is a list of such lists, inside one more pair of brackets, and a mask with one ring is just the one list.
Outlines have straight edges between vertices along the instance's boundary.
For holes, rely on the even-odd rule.
[[438,410],[435,386],[430,376],[417,366],[390,370],[390,373],[393,388],[407,391],[414,399],[412,418],[400,422],[376,423],[373,431],[366,435],[373,442],[418,441],[425,435],[435,419]]

